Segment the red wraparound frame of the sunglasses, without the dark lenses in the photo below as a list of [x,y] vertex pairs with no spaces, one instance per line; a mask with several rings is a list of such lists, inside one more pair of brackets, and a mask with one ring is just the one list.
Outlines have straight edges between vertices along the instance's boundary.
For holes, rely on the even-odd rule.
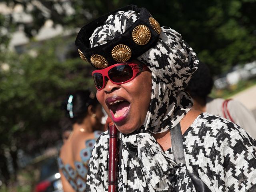
[[[113,79],[111,79],[109,77],[109,72],[111,72],[111,70],[114,68],[114,69],[118,69],[120,68],[121,66],[130,66],[130,68],[132,69],[132,77],[128,77],[129,79],[127,80],[124,80],[124,81],[121,81],[120,82],[115,82],[113,81]],[[119,67],[120,66],[120,67]],[[105,85],[106,85],[106,78],[108,78],[108,80],[110,80],[113,84],[117,84],[117,85],[120,85],[120,84],[124,84],[124,83],[127,83],[127,82],[130,82],[131,80],[133,80],[138,73],[140,72],[143,72],[143,71],[149,71],[148,67],[146,65],[142,65],[142,64],[137,64],[137,63],[132,63],[132,62],[124,62],[124,63],[118,63],[118,64],[114,64],[112,66],[109,66],[105,69],[100,69],[100,70],[95,70],[92,72],[92,77],[93,77],[93,80],[94,80],[94,84],[97,88],[97,90],[102,90]],[[102,86],[100,88],[97,87],[97,83],[96,82],[96,75],[101,75],[100,77],[102,77],[101,79],[101,82],[102,82]],[[125,76],[122,76],[123,78],[125,78]]]

